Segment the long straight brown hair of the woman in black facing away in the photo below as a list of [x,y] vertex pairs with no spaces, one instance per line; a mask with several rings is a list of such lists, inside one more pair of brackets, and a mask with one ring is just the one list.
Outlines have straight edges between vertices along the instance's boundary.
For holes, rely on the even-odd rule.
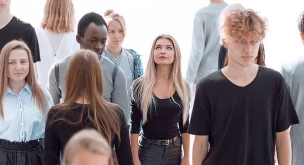
[[[82,65],[80,67],[80,64]],[[57,104],[52,109],[60,109],[64,115],[58,119],[51,119],[52,123],[63,120],[71,125],[78,125],[83,121],[83,114],[89,110],[88,118],[94,123],[95,128],[102,134],[106,140],[111,143],[113,136],[117,135],[120,141],[120,122],[119,118],[124,115],[122,109],[117,104],[105,101],[102,98],[103,93],[103,76],[100,62],[97,54],[90,50],[79,50],[69,62],[65,75],[65,98],[62,104]],[[75,102],[79,98],[87,99],[89,108],[83,106],[82,115],[76,122],[65,118],[65,114],[75,107]],[[52,109],[49,111],[51,113]],[[91,115],[91,112],[93,115]],[[123,123],[122,123],[123,124]],[[48,126],[47,126],[48,127]]]

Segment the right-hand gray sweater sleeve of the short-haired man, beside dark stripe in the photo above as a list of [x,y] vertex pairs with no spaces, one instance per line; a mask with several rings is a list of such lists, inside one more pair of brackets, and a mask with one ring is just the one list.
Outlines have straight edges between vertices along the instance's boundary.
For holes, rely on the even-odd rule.
[[116,80],[111,93],[112,103],[118,104],[125,112],[128,124],[130,122],[130,107],[129,97],[127,92],[127,78],[121,67],[118,67]]

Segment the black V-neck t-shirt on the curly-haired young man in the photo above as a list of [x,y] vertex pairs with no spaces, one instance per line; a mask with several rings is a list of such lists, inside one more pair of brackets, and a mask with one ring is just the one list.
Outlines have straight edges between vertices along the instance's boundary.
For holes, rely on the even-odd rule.
[[239,87],[218,70],[200,80],[188,133],[209,135],[204,165],[274,164],[276,132],[299,123],[283,76],[259,66]]

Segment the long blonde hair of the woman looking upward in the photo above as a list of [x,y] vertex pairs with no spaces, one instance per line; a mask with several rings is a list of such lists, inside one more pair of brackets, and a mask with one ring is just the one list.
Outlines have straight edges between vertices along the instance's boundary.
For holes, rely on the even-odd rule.
[[[161,38],[169,39],[173,43],[175,57],[172,63],[172,70],[169,75],[169,91],[174,87],[176,88],[177,94],[182,101],[182,105],[179,106],[183,107],[182,119],[183,125],[185,125],[189,112],[190,88],[188,82],[181,75],[181,53],[176,40],[171,35],[161,34],[155,38],[146,71],[142,77],[136,79],[133,83],[132,100],[141,109],[142,123],[144,124],[147,121],[148,111],[151,113],[151,110],[153,110],[151,109],[153,104],[156,105],[153,88],[156,84],[158,75],[156,72],[156,63],[154,61],[154,48],[157,40]],[[173,96],[171,96],[170,99],[174,101]]]

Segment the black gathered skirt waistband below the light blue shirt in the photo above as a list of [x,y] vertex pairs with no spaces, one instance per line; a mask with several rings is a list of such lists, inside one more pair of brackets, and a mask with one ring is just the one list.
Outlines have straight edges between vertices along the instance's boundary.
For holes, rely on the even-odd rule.
[[11,142],[8,140],[0,139],[0,148],[5,150],[30,150],[39,146],[40,143],[38,140],[31,140],[28,142]]

